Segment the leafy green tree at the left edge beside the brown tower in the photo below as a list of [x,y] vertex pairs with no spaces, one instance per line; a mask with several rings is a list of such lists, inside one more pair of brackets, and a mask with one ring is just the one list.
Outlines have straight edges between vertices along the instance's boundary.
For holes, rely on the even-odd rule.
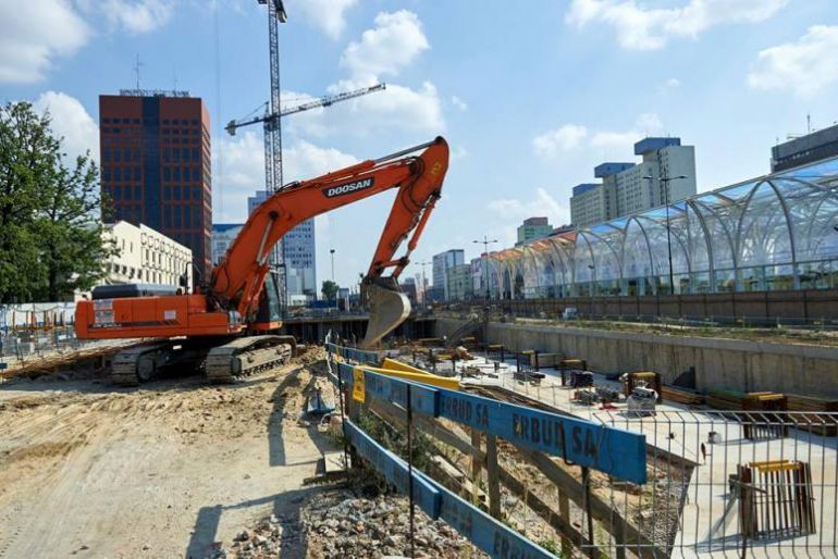
[[99,171],[67,161],[49,114],[0,108],[0,302],[60,300],[104,276]]

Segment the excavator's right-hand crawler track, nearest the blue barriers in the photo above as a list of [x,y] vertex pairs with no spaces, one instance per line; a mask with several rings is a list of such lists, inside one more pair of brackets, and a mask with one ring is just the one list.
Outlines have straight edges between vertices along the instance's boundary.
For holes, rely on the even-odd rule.
[[204,370],[210,383],[232,383],[287,363],[294,356],[295,347],[292,336],[241,337],[212,348],[207,353]]

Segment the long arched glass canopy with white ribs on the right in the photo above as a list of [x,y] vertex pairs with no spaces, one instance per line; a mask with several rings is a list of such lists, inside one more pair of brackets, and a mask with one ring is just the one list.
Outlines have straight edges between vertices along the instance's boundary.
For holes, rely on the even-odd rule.
[[493,297],[838,287],[838,158],[490,254]]

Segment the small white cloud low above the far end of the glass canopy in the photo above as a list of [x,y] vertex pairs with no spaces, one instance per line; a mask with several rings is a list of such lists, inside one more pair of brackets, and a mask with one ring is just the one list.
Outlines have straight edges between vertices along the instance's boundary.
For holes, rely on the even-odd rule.
[[498,198],[486,204],[488,224],[501,241],[501,247],[510,247],[517,240],[516,228],[527,218],[545,216],[555,227],[570,221],[570,212],[545,189],[535,189],[531,199]]

